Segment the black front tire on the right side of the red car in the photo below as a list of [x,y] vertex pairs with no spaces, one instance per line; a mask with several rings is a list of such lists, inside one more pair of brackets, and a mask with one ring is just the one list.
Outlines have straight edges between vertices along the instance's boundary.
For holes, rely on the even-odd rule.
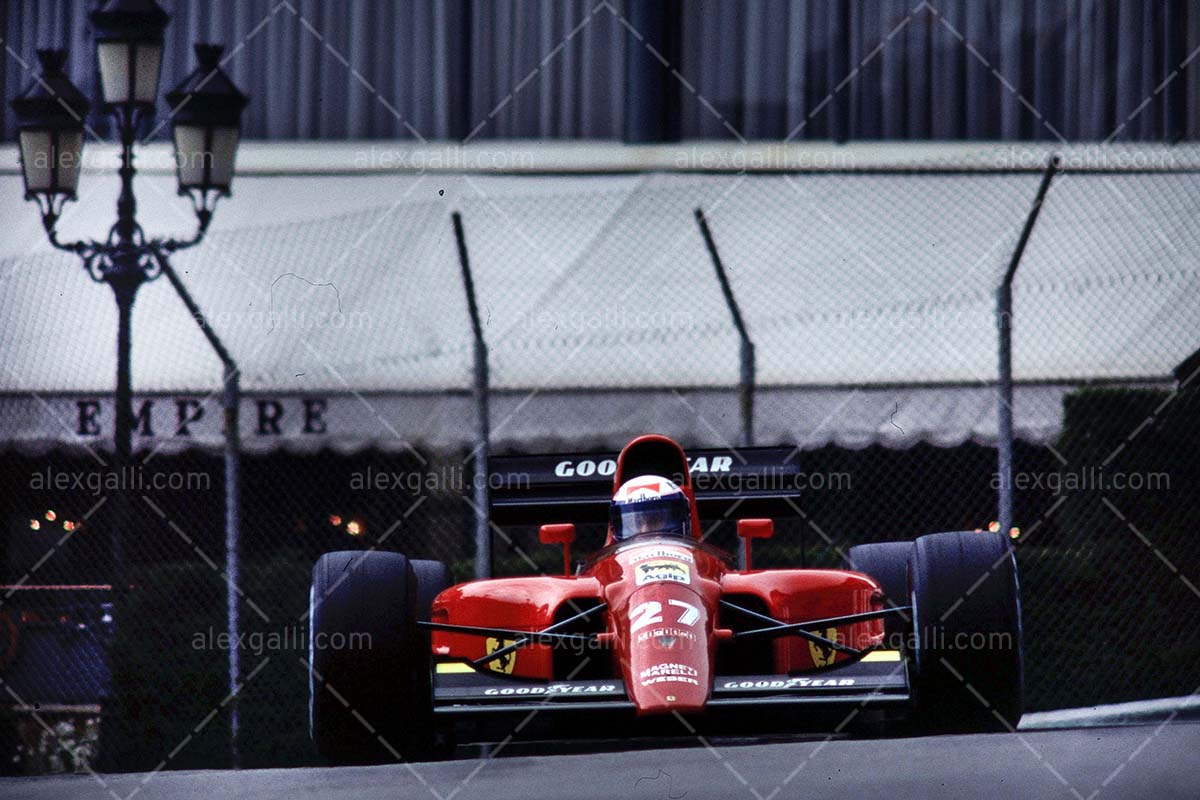
[[914,722],[925,733],[1012,730],[1021,718],[1021,601],[1002,534],[920,536],[908,558]]

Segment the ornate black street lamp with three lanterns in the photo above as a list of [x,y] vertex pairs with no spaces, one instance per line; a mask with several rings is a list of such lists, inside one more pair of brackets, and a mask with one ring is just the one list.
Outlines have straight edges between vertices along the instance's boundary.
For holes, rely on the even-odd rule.
[[[151,119],[162,71],[163,29],[168,16],[154,0],[108,0],[91,14],[100,64],[102,108],[115,122],[121,143],[121,190],[116,222],[103,240],[59,241],[62,206],[76,199],[83,138],[90,103],[67,78],[66,50],[40,50],[42,74],[12,101],[17,118],[25,199],[35,200],[50,243],[77,254],[88,275],[107,283],[116,299],[116,420],[113,434],[118,470],[130,463],[133,390],[130,374],[131,321],[138,288],[169,269],[170,253],[197,245],[208,230],[217,198],[228,197],[242,109],[247,98],[221,70],[221,48],[197,46],[199,66],[168,94],[174,125],[179,193],[197,216],[191,239],[148,239],[137,222],[133,197],[133,145],[139,126]],[[114,589],[124,564],[121,537],[128,522],[127,492],[114,495]]]

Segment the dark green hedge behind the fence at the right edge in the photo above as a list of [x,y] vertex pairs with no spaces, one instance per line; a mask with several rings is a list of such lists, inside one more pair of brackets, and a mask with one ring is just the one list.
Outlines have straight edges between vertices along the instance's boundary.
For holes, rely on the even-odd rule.
[[1172,567],[1200,585],[1200,393],[1075,392],[1057,450],[1062,505],[1018,548],[1031,705],[1195,691],[1200,599]]

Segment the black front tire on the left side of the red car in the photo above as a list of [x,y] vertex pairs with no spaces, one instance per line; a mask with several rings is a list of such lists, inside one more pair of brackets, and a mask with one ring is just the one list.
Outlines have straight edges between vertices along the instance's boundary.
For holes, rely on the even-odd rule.
[[322,555],[310,590],[308,723],[331,764],[425,757],[433,744],[418,582],[400,553]]

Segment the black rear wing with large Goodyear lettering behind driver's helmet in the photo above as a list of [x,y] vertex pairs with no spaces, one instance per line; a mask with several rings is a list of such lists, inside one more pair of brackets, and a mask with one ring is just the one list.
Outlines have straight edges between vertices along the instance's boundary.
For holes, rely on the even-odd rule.
[[[803,473],[794,447],[688,451],[702,519],[794,516]],[[617,453],[496,456],[488,462],[497,524],[600,523],[608,518]],[[682,475],[665,475],[683,482]]]

